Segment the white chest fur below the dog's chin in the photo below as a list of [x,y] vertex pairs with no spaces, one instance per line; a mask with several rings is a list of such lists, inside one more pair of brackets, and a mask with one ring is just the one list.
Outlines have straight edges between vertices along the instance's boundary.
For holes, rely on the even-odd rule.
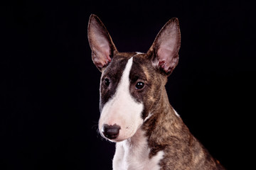
[[113,159],[114,170],[159,170],[164,152],[158,152],[149,159],[150,149],[142,130],[137,130],[132,139],[118,142]]

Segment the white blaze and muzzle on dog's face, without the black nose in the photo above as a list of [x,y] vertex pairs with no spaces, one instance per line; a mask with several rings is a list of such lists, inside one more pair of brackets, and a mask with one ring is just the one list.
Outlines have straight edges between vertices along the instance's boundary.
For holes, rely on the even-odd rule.
[[101,133],[104,124],[117,124],[121,127],[119,136],[113,140],[114,142],[132,137],[143,123],[141,118],[143,104],[135,101],[129,92],[129,73],[132,68],[132,61],[133,57],[128,60],[124,68],[116,93],[110,98],[110,101],[105,103],[100,115],[99,130]]

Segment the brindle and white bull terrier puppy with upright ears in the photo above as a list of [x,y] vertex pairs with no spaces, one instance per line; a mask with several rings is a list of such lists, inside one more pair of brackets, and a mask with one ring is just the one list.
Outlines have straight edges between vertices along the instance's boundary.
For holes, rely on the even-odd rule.
[[88,24],[92,61],[102,72],[102,137],[116,143],[114,170],[224,169],[191,135],[165,84],[178,64],[181,32],[171,18],[146,53],[118,52],[100,18]]

